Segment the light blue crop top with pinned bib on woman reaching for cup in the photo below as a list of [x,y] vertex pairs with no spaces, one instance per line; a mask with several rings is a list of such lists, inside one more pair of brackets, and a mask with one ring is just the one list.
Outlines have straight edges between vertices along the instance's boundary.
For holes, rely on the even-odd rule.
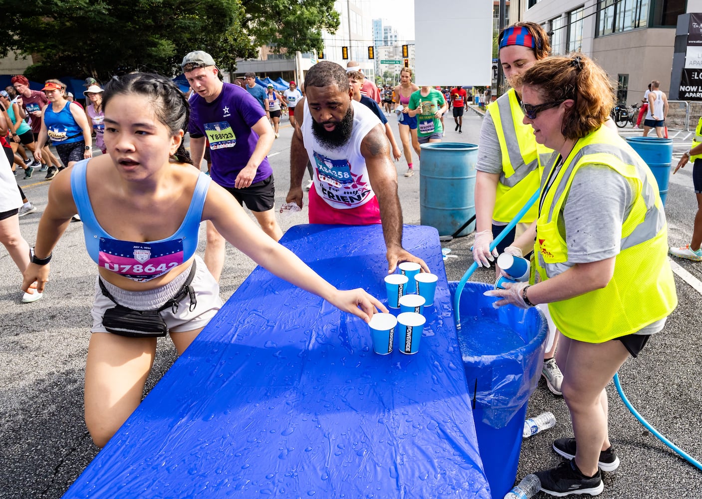
[[74,164],[71,192],[83,221],[88,254],[98,267],[137,282],[146,282],[166,274],[187,262],[197,250],[197,239],[210,178],[200,173],[183,223],[171,237],[160,241],[121,241],[113,239],[100,227],[88,195],[86,166],[88,159]]

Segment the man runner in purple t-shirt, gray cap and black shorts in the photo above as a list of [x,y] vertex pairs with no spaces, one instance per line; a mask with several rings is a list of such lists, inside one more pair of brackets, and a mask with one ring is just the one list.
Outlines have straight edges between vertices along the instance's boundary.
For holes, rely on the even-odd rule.
[[[187,54],[181,68],[194,92],[188,127],[193,164],[200,167],[209,140],[212,180],[246,204],[263,231],[278,241],[283,232],[273,211],[273,170],[266,157],[275,135],[263,108],[244,88],[221,81],[206,52]],[[224,238],[207,222],[205,264],[218,281],[224,251]]]

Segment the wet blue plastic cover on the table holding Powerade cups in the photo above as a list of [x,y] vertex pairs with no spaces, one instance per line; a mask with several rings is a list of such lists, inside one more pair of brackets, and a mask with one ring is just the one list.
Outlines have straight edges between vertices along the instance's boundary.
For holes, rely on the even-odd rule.
[[[387,303],[380,225],[281,242]],[[403,245],[439,276],[417,354],[373,353],[364,321],[256,267],[64,497],[489,499],[439,234]]]

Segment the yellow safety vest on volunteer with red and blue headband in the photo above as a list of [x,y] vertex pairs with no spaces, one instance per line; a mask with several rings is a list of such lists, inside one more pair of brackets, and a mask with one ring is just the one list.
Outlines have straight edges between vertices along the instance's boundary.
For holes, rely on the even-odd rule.
[[[495,125],[502,153],[502,173],[497,185],[494,220],[509,222],[538,188],[541,163],[552,150],[536,143],[534,129],[524,125],[524,113],[513,88],[487,107]],[[538,210],[532,207],[520,220],[532,222]]]

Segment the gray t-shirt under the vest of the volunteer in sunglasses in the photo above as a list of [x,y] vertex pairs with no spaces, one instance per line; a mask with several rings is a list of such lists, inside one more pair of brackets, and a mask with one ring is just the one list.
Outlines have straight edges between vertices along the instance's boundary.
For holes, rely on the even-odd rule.
[[[599,262],[618,255],[621,227],[633,206],[634,192],[635,186],[608,166],[579,168],[558,215],[559,231],[566,234],[568,262],[545,264],[546,275],[554,277],[576,263]],[[664,325],[665,318],[637,334],[657,333]]]

